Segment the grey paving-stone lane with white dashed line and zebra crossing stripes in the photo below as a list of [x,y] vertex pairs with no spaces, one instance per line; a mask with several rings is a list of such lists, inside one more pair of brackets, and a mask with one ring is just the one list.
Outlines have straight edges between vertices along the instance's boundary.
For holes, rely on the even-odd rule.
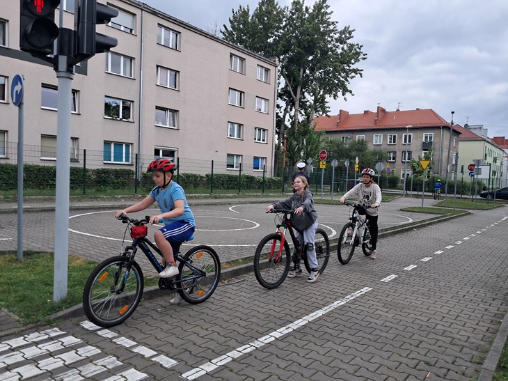
[[245,274],[196,306],[145,301],[111,329],[79,317],[0,333],[0,380],[491,380],[508,330],[507,216],[384,235],[376,261],[332,256],[312,284],[265,290]]

